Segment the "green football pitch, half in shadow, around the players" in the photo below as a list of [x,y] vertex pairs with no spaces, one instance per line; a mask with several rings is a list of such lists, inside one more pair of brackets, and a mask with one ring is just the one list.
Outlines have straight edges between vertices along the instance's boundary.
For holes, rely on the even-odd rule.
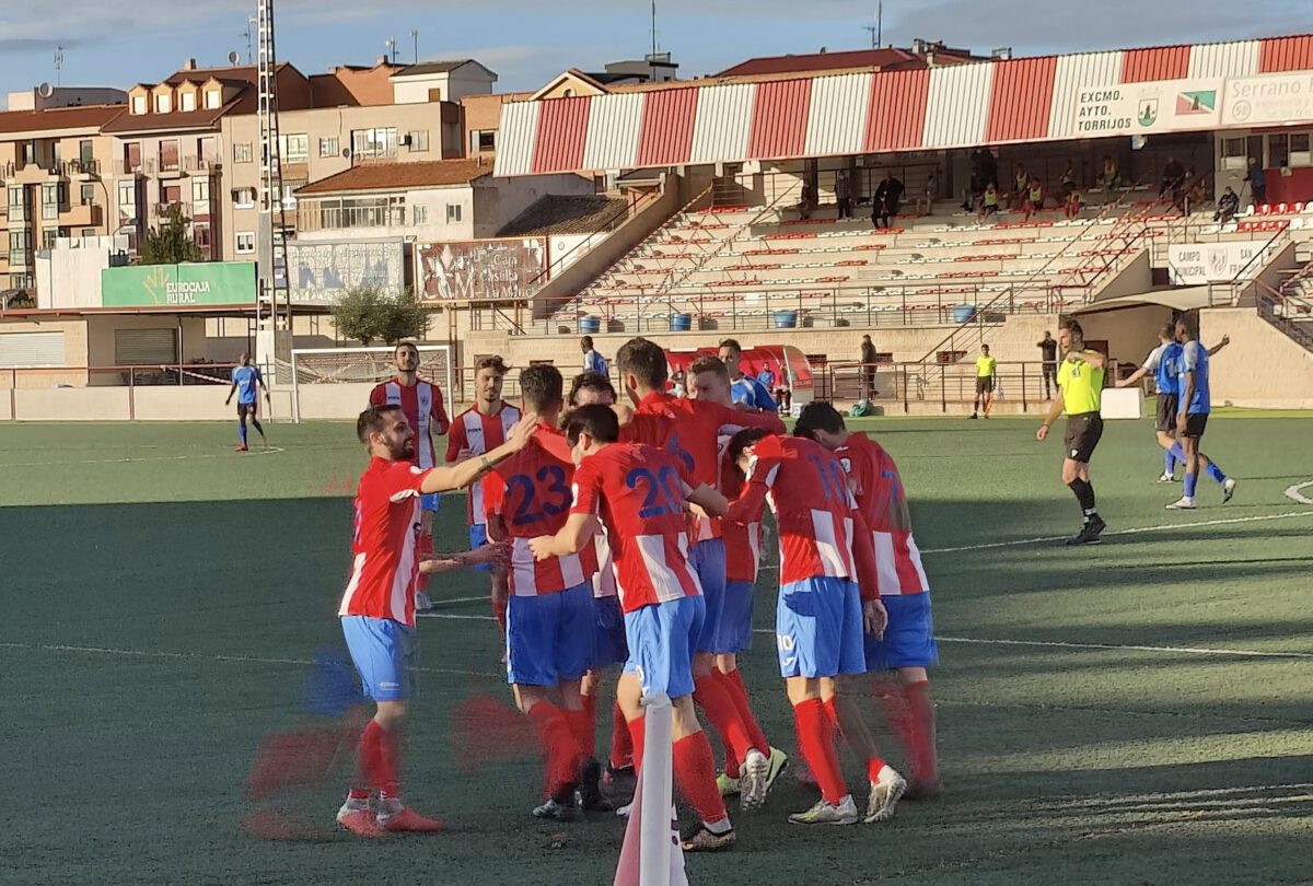
[[[1203,479],[1186,513],[1163,509],[1180,486],[1154,483],[1150,421],[1108,423],[1108,532],[1083,549],[1058,541],[1078,509],[1037,423],[853,423],[899,463],[934,588],[944,797],[805,830],[785,816],[814,790],[785,774],[760,812],[730,807],[738,845],[689,856],[691,883],[1313,882],[1313,417],[1216,416],[1204,450],[1239,487],[1224,507]],[[0,427],[0,883],[609,883],[621,820],[529,815],[537,759],[488,710],[509,697],[475,574],[431,584],[403,770],[448,832],[335,830],[339,760],[280,797],[305,833],[248,835],[261,740],[330,722],[306,686],[344,652],[365,465],[347,424],[269,434],[236,454],[232,423]],[[442,501],[440,547],[462,546],[463,504]],[[793,753],[773,579],[741,662]],[[487,719],[453,715],[471,700]]]

